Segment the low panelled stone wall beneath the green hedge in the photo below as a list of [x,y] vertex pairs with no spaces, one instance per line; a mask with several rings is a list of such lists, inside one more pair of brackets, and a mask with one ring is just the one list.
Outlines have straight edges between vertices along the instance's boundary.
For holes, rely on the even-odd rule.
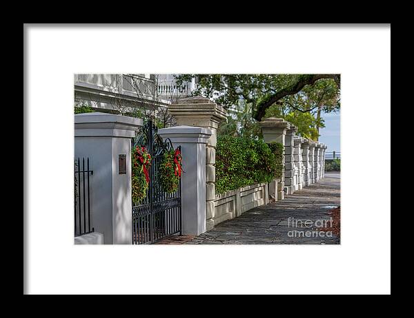
[[217,194],[215,196],[214,223],[217,225],[223,221],[237,218],[256,206],[268,204],[268,198],[268,184],[266,182]]

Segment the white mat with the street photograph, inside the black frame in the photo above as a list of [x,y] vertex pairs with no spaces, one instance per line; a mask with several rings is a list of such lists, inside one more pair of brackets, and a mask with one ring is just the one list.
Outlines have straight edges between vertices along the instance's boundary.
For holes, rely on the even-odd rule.
[[23,295],[390,295],[390,153],[391,23],[24,23]]

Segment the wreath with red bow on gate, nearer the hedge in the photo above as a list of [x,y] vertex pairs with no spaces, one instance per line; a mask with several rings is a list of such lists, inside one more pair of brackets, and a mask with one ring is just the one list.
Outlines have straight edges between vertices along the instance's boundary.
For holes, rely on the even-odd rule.
[[178,189],[182,172],[181,160],[179,148],[164,152],[164,158],[161,161],[160,167],[160,179],[162,187],[167,193],[173,193]]

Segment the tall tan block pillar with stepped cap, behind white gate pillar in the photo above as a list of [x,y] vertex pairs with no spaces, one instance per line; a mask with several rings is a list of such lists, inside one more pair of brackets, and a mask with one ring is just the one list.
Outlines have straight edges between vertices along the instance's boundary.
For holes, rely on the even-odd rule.
[[[177,121],[177,125],[208,128],[211,136],[206,145],[206,218],[207,231],[215,226],[215,151],[217,145],[217,128],[226,118],[226,109],[213,103],[208,98],[193,96],[178,100],[177,104],[168,106],[168,113]],[[228,213],[231,218],[231,213]],[[220,222],[223,218],[220,218]]]

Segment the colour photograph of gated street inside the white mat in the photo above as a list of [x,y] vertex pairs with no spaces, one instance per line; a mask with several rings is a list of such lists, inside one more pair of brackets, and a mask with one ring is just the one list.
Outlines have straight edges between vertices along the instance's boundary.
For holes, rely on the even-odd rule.
[[75,74],[75,244],[340,244],[340,74]]

